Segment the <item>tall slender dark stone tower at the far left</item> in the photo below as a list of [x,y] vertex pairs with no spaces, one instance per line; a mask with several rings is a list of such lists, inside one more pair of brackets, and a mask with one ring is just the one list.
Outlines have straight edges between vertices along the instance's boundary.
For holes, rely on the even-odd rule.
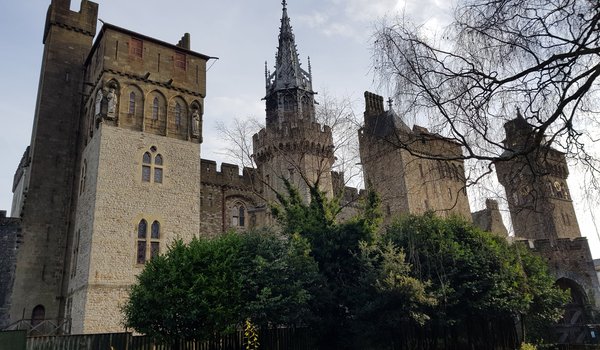
[[64,252],[69,243],[77,132],[85,58],[96,34],[98,5],[52,0],[43,35],[44,56],[31,145],[19,176],[15,215],[22,217],[10,319],[60,318]]

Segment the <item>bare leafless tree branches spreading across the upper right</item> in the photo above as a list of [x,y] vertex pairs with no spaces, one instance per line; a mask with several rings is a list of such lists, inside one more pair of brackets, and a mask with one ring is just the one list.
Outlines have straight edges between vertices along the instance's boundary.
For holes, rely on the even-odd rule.
[[[502,161],[546,143],[595,170],[599,20],[594,0],[464,0],[437,39],[405,19],[380,26],[375,71],[400,113],[429,117],[465,159]],[[501,132],[517,110],[532,126],[518,152]]]

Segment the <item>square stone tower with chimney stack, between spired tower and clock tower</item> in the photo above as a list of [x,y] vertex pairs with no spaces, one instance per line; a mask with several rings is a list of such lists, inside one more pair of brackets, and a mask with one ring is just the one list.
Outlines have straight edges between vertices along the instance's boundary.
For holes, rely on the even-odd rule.
[[384,219],[399,214],[457,214],[470,219],[462,149],[415,125],[411,130],[382,96],[365,92],[358,135],[365,183],[381,196]]

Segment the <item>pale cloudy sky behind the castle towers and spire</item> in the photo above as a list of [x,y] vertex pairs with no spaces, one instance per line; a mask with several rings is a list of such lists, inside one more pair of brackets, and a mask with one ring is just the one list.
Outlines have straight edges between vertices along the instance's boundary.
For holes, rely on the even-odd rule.
[[[0,1],[0,210],[12,202],[14,171],[31,140],[42,60],[42,34],[50,0]],[[234,118],[264,120],[265,61],[275,64],[281,19],[279,0],[98,0],[99,18],[129,30],[177,43],[191,34],[191,49],[211,60],[203,117],[202,158],[228,161],[225,140],[216,129]],[[440,28],[449,20],[446,0],[289,0],[288,14],[303,67],[310,56],[313,89],[348,97],[362,114],[363,92],[387,98],[374,80],[372,33],[385,16],[402,14],[414,23]],[[72,0],[78,11],[80,2]],[[98,23],[100,29],[101,23]],[[581,189],[569,182],[582,233],[600,258],[598,232]],[[481,203],[482,201],[479,201]],[[482,209],[472,202],[471,210]],[[592,211],[595,208],[592,209]]]

